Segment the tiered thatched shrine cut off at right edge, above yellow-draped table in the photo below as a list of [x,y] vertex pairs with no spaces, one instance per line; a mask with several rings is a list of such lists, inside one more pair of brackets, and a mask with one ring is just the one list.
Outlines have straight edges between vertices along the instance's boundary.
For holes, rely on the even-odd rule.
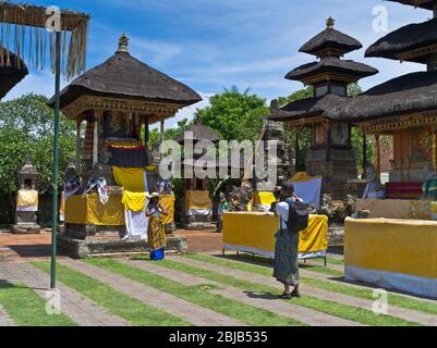
[[336,116],[353,120],[365,133],[376,137],[378,171],[380,136],[392,136],[388,195],[417,199],[429,169],[435,170],[437,165],[437,1],[396,2],[434,9],[434,18],[388,34],[367,49],[366,57],[421,63],[426,71],[406,74],[367,90],[340,108]]

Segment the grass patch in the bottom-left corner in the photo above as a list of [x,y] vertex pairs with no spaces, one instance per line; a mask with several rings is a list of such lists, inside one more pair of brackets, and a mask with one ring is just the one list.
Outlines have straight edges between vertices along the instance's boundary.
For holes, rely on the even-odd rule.
[[22,284],[0,282],[0,304],[19,326],[75,326],[66,315],[46,313],[46,300]]

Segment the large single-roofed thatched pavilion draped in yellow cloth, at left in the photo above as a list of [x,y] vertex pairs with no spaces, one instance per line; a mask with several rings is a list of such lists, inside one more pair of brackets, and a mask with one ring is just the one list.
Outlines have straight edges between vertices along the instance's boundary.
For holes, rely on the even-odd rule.
[[[93,252],[90,246],[95,246],[92,240],[96,235],[112,236],[114,241],[121,243],[120,237],[128,228],[125,210],[130,210],[131,216],[141,213],[131,209],[135,206],[135,194],[144,194],[141,196],[144,215],[145,192],[155,189],[158,178],[157,169],[150,167],[149,125],[162,123],[180,109],[202,100],[190,87],[132,57],[128,44],[129,38],[123,35],[114,55],[61,91],[62,113],[77,124],[80,192],[93,186],[89,179],[94,179],[98,188],[107,184],[105,189],[98,189],[98,194],[76,194],[65,201],[65,236],[60,238],[60,246],[64,243],[63,247],[76,256]],[[84,122],[86,130],[82,147],[81,125]],[[81,172],[83,163],[86,164],[85,172]],[[126,191],[132,195],[126,196]],[[101,252],[113,251],[101,248]],[[121,245],[114,248],[124,250]],[[141,251],[145,246],[138,248]]]

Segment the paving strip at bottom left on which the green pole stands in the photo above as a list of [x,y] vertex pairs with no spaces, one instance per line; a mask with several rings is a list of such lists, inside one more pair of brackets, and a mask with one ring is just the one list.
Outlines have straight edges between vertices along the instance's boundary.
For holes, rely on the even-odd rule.
[[[25,262],[8,262],[0,264],[1,277],[9,283],[25,284],[34,289],[40,297],[46,299],[50,284],[49,276],[37,268]],[[71,318],[81,326],[130,326],[131,324],[112,313],[106,308],[97,304],[87,297],[58,282],[61,294],[62,313]]]

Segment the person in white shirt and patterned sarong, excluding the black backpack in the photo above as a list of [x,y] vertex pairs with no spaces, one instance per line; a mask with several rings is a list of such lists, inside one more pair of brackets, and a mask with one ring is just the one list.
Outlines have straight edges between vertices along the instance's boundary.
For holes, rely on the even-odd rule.
[[[282,185],[281,199],[274,203],[272,210],[279,217],[279,231],[276,235],[275,271],[274,277],[283,284],[282,299],[301,297],[299,293],[299,233],[289,231],[289,202],[302,201],[294,195],[294,185],[286,183]],[[291,291],[291,287],[294,287]]]

